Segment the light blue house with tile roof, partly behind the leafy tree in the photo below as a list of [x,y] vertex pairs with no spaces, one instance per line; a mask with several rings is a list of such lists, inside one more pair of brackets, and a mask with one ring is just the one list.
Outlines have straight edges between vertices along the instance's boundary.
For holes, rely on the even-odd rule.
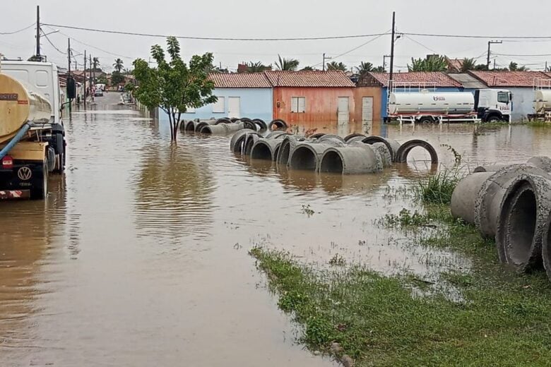
[[[249,117],[272,121],[273,90],[264,73],[212,73],[218,102],[198,109],[188,109],[183,120],[220,119],[222,117]],[[168,116],[159,111],[159,119],[168,121]]]

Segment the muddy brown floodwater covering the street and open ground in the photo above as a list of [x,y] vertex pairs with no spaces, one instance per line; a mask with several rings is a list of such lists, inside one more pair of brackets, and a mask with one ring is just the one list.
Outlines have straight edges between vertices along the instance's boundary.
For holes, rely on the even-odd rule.
[[[118,97],[66,121],[68,167],[47,200],[0,203],[0,366],[332,366],[296,344],[300,330],[278,311],[252,246],[389,273],[469,266],[375,223],[415,207],[393,188],[431,171],[422,151],[377,175],[287,172],[241,160],[227,137],[170,145],[165,124],[115,106]],[[426,138],[449,166],[446,144],[473,167],[551,148],[551,130],[528,126],[319,132],[368,129]]]

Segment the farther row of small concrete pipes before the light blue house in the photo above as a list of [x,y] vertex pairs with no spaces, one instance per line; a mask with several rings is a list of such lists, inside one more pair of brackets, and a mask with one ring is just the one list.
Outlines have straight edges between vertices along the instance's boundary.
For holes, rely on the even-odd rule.
[[180,128],[188,133],[203,133],[209,135],[227,135],[243,130],[245,128],[256,131],[258,133],[266,133],[267,131],[287,130],[288,125],[281,119],[275,119],[269,124],[266,124],[262,119],[249,119],[242,117],[240,119],[230,119],[224,117],[222,119],[210,120],[189,120],[182,121]]

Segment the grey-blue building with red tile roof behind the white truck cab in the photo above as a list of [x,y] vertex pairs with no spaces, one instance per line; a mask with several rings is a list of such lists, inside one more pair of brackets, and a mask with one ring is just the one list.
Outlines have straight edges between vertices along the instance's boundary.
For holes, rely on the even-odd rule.
[[525,121],[534,113],[534,87],[538,80],[551,80],[541,71],[469,71],[489,88],[507,89],[513,94],[513,121]]

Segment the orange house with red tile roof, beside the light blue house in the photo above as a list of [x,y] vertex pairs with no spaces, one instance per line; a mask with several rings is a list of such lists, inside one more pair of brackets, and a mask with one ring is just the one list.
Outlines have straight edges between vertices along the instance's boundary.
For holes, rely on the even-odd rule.
[[380,121],[381,88],[356,88],[343,71],[265,71],[273,119],[288,124]]

